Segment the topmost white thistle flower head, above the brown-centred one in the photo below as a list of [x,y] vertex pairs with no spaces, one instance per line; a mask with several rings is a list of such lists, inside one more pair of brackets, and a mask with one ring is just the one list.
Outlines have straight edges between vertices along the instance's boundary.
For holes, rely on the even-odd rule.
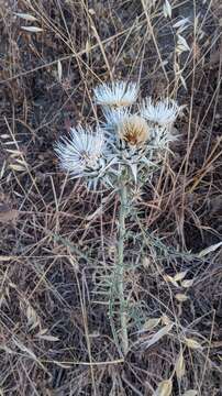
[[131,106],[136,100],[137,94],[138,87],[134,82],[115,81],[101,84],[95,88],[96,102],[101,106]]

